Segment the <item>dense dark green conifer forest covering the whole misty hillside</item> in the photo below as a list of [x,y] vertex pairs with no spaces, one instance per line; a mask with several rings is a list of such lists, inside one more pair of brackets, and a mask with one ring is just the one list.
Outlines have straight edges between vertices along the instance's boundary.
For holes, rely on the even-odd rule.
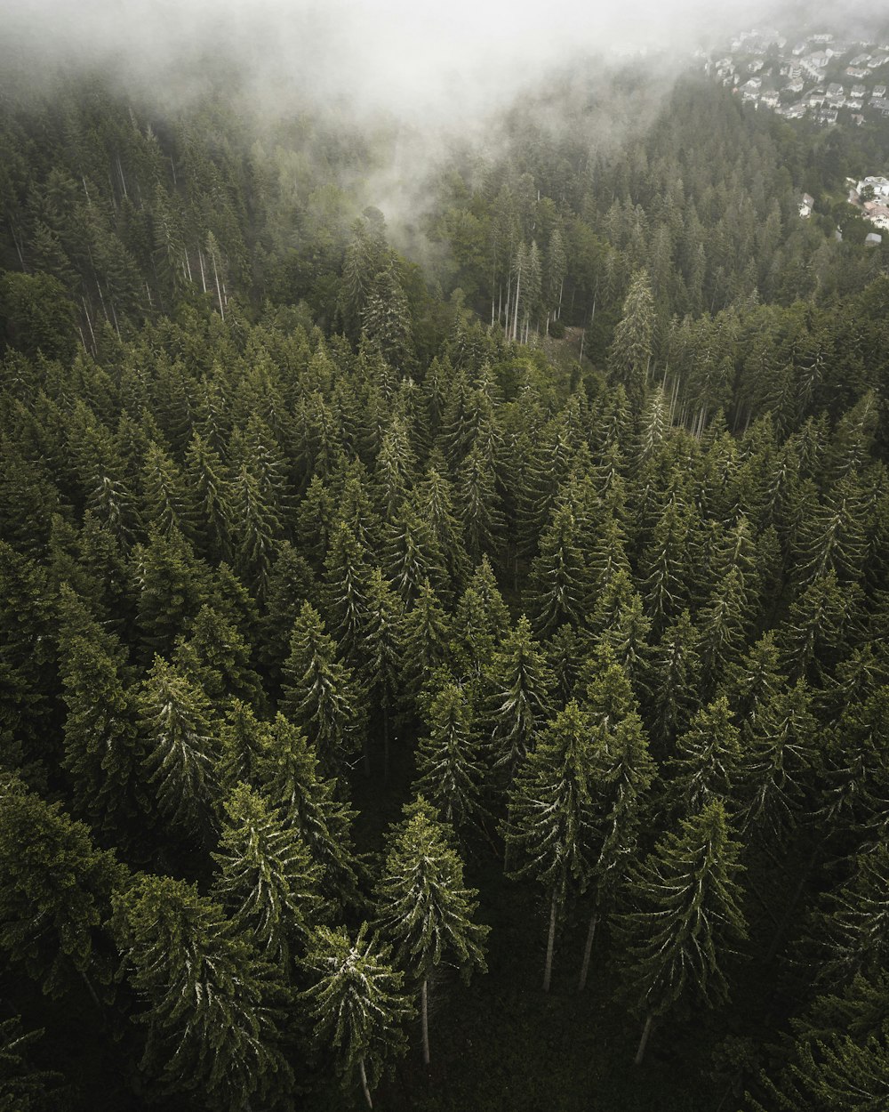
[[486,135],[0,90],[0,1109],[889,1105],[889,125]]

